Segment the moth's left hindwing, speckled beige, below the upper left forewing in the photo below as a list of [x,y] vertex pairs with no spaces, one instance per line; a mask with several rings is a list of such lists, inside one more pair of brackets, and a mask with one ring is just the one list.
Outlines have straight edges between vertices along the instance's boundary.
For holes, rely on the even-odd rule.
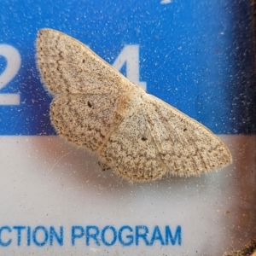
[[61,95],[51,103],[50,118],[67,141],[95,152],[120,122],[119,101],[115,95]]

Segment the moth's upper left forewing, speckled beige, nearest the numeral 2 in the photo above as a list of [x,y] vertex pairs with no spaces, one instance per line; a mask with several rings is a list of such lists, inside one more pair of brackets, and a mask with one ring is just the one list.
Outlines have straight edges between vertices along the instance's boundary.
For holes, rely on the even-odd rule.
[[55,30],[38,32],[37,59],[43,82],[53,94],[118,93],[135,86],[87,46]]

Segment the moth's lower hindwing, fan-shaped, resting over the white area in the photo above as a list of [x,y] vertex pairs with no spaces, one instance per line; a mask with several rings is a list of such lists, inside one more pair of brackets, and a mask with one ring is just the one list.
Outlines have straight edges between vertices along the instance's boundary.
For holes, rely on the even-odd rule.
[[100,152],[113,172],[131,181],[154,180],[166,172],[144,110],[143,104],[134,108]]

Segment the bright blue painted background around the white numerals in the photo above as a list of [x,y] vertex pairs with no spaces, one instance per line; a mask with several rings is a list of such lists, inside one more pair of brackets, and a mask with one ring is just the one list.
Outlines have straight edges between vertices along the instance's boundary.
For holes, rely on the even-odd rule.
[[[139,44],[149,93],[217,134],[255,133],[252,7],[233,2],[3,1],[0,44],[18,49],[21,67],[0,92],[19,92],[21,103],[0,106],[0,135],[55,134],[35,64],[43,27],[79,39],[111,64],[125,44]],[[0,57],[0,74],[5,62]]]

